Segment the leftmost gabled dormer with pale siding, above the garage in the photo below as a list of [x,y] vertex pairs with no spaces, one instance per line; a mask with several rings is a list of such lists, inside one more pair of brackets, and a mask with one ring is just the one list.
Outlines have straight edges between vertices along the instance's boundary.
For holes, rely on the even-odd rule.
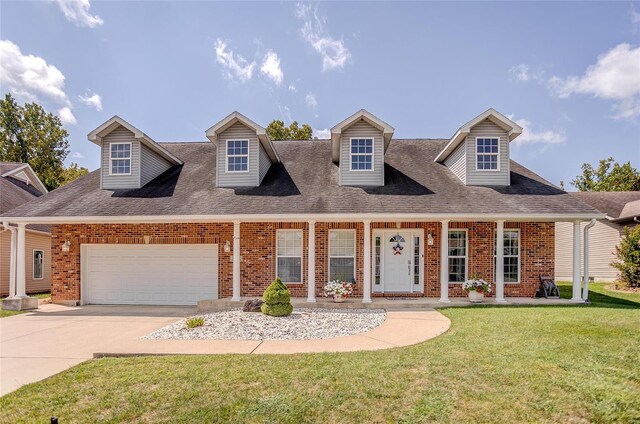
[[105,190],[144,187],[182,161],[151,137],[120,118],[113,118],[88,135],[101,148],[100,188]]

